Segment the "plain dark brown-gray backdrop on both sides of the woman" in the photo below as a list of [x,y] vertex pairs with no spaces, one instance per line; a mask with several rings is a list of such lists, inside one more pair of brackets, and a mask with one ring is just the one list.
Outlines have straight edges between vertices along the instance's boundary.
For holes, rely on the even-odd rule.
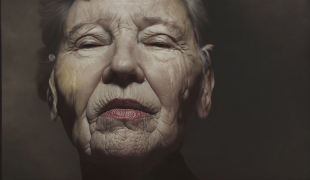
[[[309,179],[309,1],[209,0],[215,88],[182,153],[204,179]],[[37,97],[36,0],[2,0],[2,179],[81,179]]]

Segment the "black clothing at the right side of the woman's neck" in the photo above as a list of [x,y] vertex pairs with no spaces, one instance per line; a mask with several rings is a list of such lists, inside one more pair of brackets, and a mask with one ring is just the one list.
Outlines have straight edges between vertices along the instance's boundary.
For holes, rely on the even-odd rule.
[[198,180],[187,167],[180,151],[169,154],[163,162],[140,180]]

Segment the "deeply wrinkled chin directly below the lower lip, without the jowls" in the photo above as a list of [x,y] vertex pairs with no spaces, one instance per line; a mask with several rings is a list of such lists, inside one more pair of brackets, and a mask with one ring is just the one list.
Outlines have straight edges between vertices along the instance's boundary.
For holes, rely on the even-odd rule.
[[139,161],[159,153],[163,144],[152,117],[117,120],[100,116],[90,124],[90,134],[90,152],[84,156],[96,164]]

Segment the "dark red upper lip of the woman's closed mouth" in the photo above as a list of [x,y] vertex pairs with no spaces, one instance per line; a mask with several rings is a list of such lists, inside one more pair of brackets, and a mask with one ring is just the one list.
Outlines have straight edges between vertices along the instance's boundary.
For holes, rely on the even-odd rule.
[[130,98],[114,98],[110,100],[107,104],[104,105],[103,111],[101,114],[111,110],[111,109],[135,109],[139,111],[143,111],[145,113],[153,114],[154,112],[147,108],[146,106],[139,103],[137,100],[130,99]]

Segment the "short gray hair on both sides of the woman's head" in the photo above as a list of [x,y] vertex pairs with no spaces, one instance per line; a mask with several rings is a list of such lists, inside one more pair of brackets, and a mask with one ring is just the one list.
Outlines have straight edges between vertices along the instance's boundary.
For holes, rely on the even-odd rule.
[[[205,66],[205,60],[201,58],[201,45],[203,42],[199,37],[204,25],[208,23],[206,10],[201,0],[181,1],[184,3],[188,17],[193,23],[199,59]],[[73,2],[74,0],[39,0],[40,28],[44,47],[38,51],[39,67],[36,80],[38,95],[43,101],[46,101],[48,79],[54,66],[54,61],[49,61],[48,55],[58,54],[63,37],[63,22]]]

